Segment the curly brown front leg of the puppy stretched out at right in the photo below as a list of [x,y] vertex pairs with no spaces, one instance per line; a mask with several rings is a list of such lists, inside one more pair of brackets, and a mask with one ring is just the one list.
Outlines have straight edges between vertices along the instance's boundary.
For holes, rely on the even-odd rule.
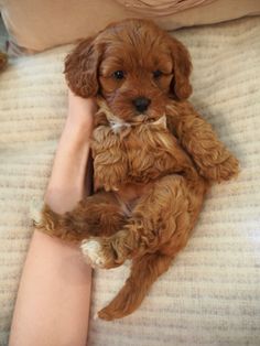
[[172,102],[167,121],[199,173],[209,181],[227,181],[238,174],[238,160],[219,141],[212,126],[188,102]]

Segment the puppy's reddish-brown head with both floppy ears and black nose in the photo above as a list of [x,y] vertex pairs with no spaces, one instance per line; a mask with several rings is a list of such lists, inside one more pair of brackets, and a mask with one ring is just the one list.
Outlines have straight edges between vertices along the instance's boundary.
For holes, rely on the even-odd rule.
[[65,62],[71,89],[85,98],[100,95],[124,121],[158,119],[169,97],[186,99],[191,69],[184,45],[144,20],[110,24]]

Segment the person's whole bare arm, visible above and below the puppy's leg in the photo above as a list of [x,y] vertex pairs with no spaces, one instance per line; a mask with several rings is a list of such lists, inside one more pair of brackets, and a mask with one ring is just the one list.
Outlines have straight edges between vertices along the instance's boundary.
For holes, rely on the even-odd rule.
[[[89,194],[86,166],[96,105],[68,95],[45,203],[64,213]],[[18,292],[10,346],[86,345],[91,269],[77,246],[34,231]]]

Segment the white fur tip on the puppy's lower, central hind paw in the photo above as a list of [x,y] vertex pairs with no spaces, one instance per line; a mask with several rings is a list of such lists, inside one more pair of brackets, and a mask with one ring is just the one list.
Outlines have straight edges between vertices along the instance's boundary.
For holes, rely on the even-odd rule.
[[97,240],[84,240],[80,245],[82,252],[93,267],[102,267],[106,262],[102,257],[101,246]]

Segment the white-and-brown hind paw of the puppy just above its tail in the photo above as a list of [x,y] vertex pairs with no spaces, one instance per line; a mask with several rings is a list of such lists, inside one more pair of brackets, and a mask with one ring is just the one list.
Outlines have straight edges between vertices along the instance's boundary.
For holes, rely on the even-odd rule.
[[80,248],[93,268],[115,268],[124,261],[113,246],[113,237],[93,237],[84,240]]

